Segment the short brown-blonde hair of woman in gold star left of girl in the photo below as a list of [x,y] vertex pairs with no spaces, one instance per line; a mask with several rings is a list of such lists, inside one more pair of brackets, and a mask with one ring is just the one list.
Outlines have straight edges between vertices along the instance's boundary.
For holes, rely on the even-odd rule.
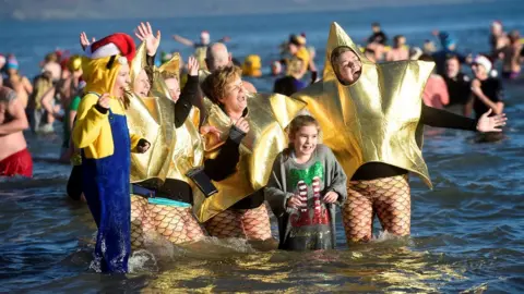
[[242,76],[240,68],[230,65],[221,68],[211,73],[202,83],[202,90],[214,103],[219,105],[221,98],[226,96],[227,84]]

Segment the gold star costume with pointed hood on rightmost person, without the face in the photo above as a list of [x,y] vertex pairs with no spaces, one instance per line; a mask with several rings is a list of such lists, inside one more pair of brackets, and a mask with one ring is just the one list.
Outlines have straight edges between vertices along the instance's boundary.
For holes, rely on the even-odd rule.
[[[331,53],[352,48],[362,62],[360,77],[345,86],[331,65]],[[333,23],[326,46],[323,81],[295,94],[319,121],[323,143],[341,162],[348,179],[367,162],[384,162],[417,173],[431,187],[422,159],[419,125],[421,94],[433,62],[370,62]]]

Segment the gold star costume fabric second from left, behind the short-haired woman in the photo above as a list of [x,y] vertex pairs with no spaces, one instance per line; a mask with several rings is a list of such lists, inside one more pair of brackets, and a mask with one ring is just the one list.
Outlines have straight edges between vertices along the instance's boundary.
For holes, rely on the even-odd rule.
[[[175,73],[180,75],[180,56],[174,57],[165,62],[159,69],[154,71],[153,94],[159,97],[167,97],[172,100],[167,89],[166,83],[159,76],[162,72]],[[199,132],[200,111],[192,107],[183,124],[175,130],[175,122],[170,125],[175,130],[177,142],[174,146],[172,155],[169,161],[169,171],[167,179],[175,179],[188,183],[193,193],[198,189],[193,182],[186,176],[186,173],[199,166],[204,160],[204,145]]]

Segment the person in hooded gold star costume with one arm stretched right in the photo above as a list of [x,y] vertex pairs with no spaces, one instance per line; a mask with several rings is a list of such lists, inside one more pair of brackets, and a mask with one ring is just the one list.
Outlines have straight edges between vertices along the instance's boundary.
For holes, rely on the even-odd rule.
[[348,179],[342,215],[348,242],[369,241],[372,220],[384,231],[408,235],[408,172],[431,187],[421,155],[424,125],[500,132],[504,115],[478,121],[422,103],[421,93],[434,63],[370,62],[336,23],[326,46],[323,81],[296,94],[324,130]]

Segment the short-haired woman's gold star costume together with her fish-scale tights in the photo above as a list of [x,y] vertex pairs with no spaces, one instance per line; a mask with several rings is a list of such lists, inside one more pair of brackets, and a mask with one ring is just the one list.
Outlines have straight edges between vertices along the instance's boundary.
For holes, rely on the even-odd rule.
[[[214,158],[229,135],[231,119],[222,108],[207,100],[207,125],[222,132],[219,142],[206,140],[206,157]],[[265,205],[254,209],[231,209],[237,201],[252,195],[267,183],[273,161],[287,145],[284,128],[303,109],[305,103],[284,95],[253,95],[248,98],[250,131],[242,139],[237,171],[221,182],[213,182],[217,194],[194,198],[198,219],[205,222],[207,232],[218,237],[267,240],[271,225]]]

